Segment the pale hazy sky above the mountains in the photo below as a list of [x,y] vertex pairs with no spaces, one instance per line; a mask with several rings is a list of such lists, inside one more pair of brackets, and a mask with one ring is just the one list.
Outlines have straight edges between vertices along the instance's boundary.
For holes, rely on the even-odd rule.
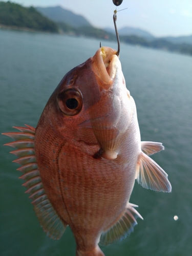
[[[61,6],[86,17],[98,28],[113,28],[112,0],[12,0],[23,6]],[[123,0],[117,8],[117,27],[147,30],[155,36],[192,34],[191,0]]]

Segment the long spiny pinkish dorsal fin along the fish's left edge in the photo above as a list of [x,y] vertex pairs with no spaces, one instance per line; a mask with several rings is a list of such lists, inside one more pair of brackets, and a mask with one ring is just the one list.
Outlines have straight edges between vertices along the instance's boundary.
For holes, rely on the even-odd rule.
[[23,186],[28,188],[26,193],[29,193],[33,200],[32,204],[40,225],[50,238],[59,239],[67,225],[62,223],[46,195],[34,152],[35,128],[29,125],[26,126],[14,127],[20,131],[18,133],[4,133],[4,135],[15,139],[14,142],[5,145],[17,148],[17,150],[11,152],[18,157],[13,162],[23,165],[17,169],[23,173],[19,178],[25,180]]

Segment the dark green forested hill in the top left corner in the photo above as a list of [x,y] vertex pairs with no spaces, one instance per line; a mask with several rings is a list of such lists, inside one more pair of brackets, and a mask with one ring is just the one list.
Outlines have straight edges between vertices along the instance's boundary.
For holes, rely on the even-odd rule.
[[35,8],[11,2],[0,2],[0,25],[45,32],[58,32],[57,25]]

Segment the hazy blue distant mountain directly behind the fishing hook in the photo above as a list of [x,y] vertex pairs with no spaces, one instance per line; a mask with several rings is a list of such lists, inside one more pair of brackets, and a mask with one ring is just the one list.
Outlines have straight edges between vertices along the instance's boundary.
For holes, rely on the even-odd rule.
[[[115,29],[105,28],[105,30],[110,33],[115,34]],[[155,39],[155,36],[153,36],[151,33],[147,32],[145,30],[139,29],[139,28],[124,27],[122,29],[118,29],[118,33],[119,33],[119,35],[122,35],[122,36],[135,35],[135,36],[139,36],[139,37],[144,37],[148,40]]]

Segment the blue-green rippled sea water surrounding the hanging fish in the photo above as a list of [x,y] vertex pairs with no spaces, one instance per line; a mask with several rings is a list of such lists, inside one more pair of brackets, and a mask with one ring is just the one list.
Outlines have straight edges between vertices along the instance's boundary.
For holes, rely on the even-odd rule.
[[[101,45],[117,49],[116,42]],[[61,78],[98,48],[96,39],[0,30],[0,132],[14,131],[14,125],[36,127]],[[138,219],[126,239],[101,248],[105,256],[191,256],[192,58],[121,44],[120,61],[137,105],[141,140],[165,146],[152,158],[168,174],[172,193],[136,182],[130,202],[144,220]],[[18,165],[11,162],[12,148],[3,146],[9,141],[0,136],[0,255],[74,256],[69,227],[60,240],[51,240],[40,227]]]

